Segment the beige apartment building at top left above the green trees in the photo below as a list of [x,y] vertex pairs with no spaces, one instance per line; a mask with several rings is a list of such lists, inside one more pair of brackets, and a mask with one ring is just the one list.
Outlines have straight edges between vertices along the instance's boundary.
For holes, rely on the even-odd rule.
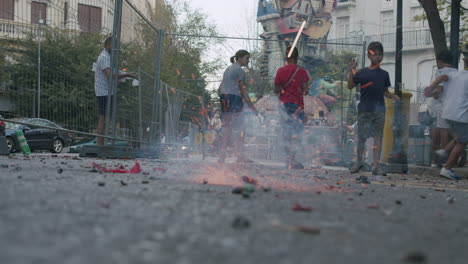
[[[164,3],[163,0],[129,2],[142,10],[145,16],[149,15],[157,3]],[[129,27],[136,23],[138,18],[125,3],[126,1],[122,25]],[[111,34],[114,5],[114,0],[0,0],[0,38],[22,38],[30,32],[34,33],[39,26],[83,33]]]

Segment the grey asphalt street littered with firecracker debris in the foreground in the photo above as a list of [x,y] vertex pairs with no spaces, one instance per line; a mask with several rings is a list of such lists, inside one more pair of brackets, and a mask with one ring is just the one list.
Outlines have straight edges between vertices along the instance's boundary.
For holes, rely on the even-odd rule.
[[[136,161],[0,156],[0,263],[468,260],[467,178],[138,162],[137,174],[106,173],[100,170],[130,170]],[[359,176],[370,183],[356,182]]]

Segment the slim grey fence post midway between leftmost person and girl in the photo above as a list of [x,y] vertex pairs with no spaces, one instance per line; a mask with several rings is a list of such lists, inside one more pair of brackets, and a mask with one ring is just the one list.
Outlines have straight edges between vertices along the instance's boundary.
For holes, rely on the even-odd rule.
[[[155,143],[161,142],[162,133],[162,92],[161,92],[161,62],[162,62],[162,49],[164,43],[164,30],[160,29],[158,32],[158,39],[156,43],[156,66],[154,73],[154,89],[153,89],[153,127],[151,128],[151,139]],[[158,106],[158,109],[156,109]],[[158,123],[159,122],[159,123]],[[159,124],[158,133],[156,133],[156,124]]]

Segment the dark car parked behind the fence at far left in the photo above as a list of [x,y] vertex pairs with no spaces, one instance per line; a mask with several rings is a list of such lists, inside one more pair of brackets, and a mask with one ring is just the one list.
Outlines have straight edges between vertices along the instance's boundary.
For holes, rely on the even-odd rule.
[[17,118],[12,121],[25,123],[20,125],[16,123],[6,123],[6,139],[10,152],[19,150],[18,139],[15,131],[22,130],[26,141],[31,150],[50,150],[52,153],[60,153],[63,148],[69,147],[72,142],[70,132],[61,130],[41,128],[37,126],[47,126],[61,128],[57,124],[40,118]]

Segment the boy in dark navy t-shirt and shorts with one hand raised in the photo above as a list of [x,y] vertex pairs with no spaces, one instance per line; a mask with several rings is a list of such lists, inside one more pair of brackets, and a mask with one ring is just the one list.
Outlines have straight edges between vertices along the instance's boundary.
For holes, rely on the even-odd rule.
[[367,48],[367,58],[371,65],[356,72],[356,61],[350,60],[348,89],[360,85],[361,99],[358,105],[358,144],[357,160],[350,168],[351,173],[358,173],[364,166],[363,154],[367,138],[374,138],[372,175],[387,175],[379,165],[382,151],[382,138],[385,124],[385,99],[400,100],[388,91],[390,76],[380,68],[384,56],[382,43],[371,42]]

